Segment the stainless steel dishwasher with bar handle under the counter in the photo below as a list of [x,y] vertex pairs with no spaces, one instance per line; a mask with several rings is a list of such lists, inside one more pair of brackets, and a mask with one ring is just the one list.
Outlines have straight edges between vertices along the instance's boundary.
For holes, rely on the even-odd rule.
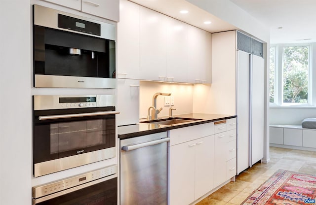
[[120,205],[167,205],[167,132],[120,140]]

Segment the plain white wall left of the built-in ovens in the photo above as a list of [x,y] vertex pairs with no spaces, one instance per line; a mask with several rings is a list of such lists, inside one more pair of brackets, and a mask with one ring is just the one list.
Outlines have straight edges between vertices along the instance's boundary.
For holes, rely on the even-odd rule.
[[31,5],[0,0],[0,205],[31,205]]

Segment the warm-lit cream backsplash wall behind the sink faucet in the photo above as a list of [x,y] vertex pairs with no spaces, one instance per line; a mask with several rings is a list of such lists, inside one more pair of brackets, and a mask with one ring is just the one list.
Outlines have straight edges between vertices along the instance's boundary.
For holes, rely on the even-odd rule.
[[[186,114],[193,112],[193,85],[178,84],[178,83],[162,83],[151,81],[140,81],[139,92],[139,117],[146,118],[148,115],[148,108],[153,106],[153,96],[155,93],[171,93],[174,98],[173,115]],[[162,116],[169,116],[169,106],[164,106],[164,97],[158,96],[157,108],[163,109],[158,114],[158,118]]]

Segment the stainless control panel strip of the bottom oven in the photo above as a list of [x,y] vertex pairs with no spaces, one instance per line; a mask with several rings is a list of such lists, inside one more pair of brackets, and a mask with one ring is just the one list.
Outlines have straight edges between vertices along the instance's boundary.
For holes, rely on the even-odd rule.
[[117,165],[110,165],[99,170],[86,172],[74,177],[65,178],[63,180],[33,187],[33,198],[37,199],[46,195],[50,195],[65,189],[69,189],[80,184],[94,181],[118,173]]

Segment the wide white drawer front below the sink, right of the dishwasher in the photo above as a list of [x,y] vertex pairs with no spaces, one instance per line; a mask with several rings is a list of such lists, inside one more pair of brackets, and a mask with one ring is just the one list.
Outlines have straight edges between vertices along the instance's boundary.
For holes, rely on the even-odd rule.
[[205,123],[200,125],[189,126],[185,128],[179,128],[170,130],[170,145],[180,144],[186,141],[191,141],[201,137],[213,135],[214,123]]

